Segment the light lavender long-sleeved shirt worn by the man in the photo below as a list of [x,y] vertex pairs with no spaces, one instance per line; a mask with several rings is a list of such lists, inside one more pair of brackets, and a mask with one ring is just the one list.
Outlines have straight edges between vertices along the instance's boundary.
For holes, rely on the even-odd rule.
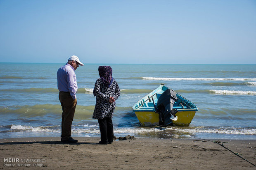
[[69,64],[59,68],[57,72],[58,89],[60,92],[70,92],[72,99],[76,99],[77,83],[75,69]]

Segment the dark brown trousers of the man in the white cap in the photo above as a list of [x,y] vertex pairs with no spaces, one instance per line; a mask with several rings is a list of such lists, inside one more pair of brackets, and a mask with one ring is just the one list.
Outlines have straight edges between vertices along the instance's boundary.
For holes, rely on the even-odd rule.
[[59,101],[62,106],[62,140],[68,140],[71,136],[71,126],[76,106],[73,106],[73,99],[69,92],[59,92]]

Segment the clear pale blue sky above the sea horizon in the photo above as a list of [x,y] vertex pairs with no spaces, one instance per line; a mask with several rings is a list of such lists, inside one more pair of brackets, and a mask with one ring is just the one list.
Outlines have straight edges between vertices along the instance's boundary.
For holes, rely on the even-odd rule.
[[256,0],[0,0],[1,62],[256,64]]

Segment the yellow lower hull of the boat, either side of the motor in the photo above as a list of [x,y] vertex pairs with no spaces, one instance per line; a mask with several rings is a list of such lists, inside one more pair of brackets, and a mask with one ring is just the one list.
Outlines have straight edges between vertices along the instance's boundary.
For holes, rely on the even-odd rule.
[[[178,119],[173,121],[173,126],[189,126],[196,111],[180,111],[176,113]],[[155,112],[135,112],[142,126],[159,125],[159,114]]]

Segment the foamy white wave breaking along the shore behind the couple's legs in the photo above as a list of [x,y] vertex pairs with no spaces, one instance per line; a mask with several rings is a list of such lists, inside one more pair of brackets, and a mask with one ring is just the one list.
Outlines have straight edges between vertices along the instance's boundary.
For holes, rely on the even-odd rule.
[[[87,135],[100,134],[100,129],[98,125],[88,125],[84,126],[85,128],[76,128],[77,125],[72,125],[72,133],[87,133]],[[31,132],[53,132],[60,133],[60,126],[25,126],[25,125],[11,125],[8,132],[18,132],[18,131],[31,131]],[[235,134],[235,135],[256,135],[256,129],[248,128],[237,128],[237,127],[224,127],[224,128],[207,128],[207,127],[189,127],[189,128],[180,128],[180,127],[152,127],[152,128],[115,128],[114,134],[152,134],[152,133],[172,133],[178,134],[183,133],[190,135],[194,133],[220,133],[220,134]]]

